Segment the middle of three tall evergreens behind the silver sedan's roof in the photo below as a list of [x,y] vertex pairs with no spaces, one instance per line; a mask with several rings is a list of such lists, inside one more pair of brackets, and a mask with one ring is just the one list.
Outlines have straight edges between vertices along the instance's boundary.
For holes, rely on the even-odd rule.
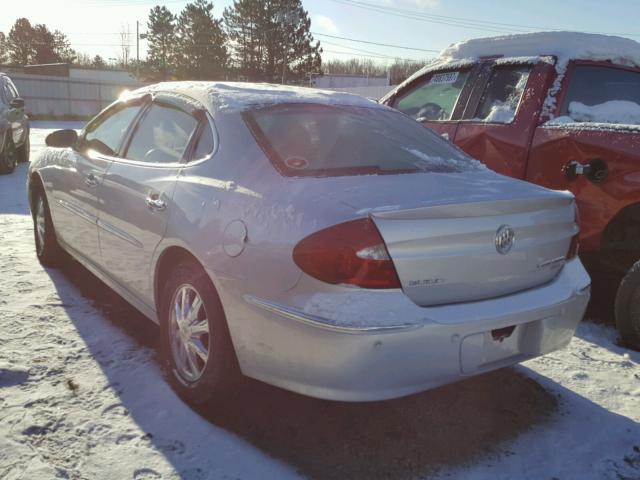
[[196,0],[185,6],[178,18],[177,75],[182,79],[223,79],[227,49],[221,20],[213,17],[213,4]]

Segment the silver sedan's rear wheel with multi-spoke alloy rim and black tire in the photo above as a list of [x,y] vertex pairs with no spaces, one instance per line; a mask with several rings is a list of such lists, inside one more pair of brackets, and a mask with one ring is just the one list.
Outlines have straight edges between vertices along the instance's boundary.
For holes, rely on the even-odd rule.
[[[224,310],[211,280],[197,262],[185,260],[169,274],[162,291],[161,353],[169,383],[195,407],[223,400],[232,391],[239,368]],[[200,308],[196,296],[201,300]],[[179,316],[183,318],[182,327],[178,326]]]

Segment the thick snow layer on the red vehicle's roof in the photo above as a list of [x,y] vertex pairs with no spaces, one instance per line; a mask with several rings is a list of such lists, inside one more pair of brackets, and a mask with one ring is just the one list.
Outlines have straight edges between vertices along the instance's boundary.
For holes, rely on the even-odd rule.
[[640,43],[628,38],[579,32],[536,32],[476,38],[454,43],[440,52],[440,61],[502,55],[555,56],[559,61],[611,60],[640,66]]

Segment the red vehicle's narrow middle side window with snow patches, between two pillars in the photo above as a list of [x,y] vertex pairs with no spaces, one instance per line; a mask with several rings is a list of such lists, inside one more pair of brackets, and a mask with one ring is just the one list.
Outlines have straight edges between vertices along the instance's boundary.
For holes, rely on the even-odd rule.
[[530,66],[506,66],[493,70],[473,120],[511,123],[529,80]]

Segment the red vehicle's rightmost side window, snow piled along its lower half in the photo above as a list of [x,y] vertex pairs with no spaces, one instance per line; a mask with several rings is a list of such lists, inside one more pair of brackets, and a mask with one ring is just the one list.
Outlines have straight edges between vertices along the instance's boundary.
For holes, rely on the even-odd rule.
[[577,65],[560,115],[555,122],[640,125],[640,72]]

